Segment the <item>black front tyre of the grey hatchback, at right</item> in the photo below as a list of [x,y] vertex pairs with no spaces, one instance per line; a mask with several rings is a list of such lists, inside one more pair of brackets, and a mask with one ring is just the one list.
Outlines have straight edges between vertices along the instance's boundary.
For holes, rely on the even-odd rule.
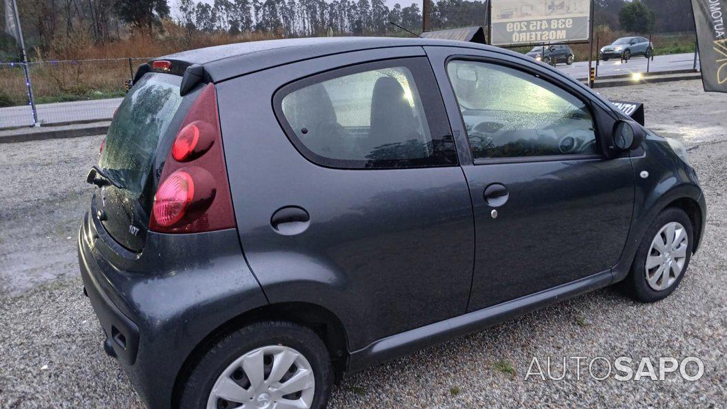
[[[682,249],[679,247],[679,252],[673,251],[674,248],[670,247],[672,244],[669,240],[672,239],[669,238],[668,235],[670,234],[669,226],[671,225],[676,225],[677,229],[679,226],[682,227],[683,234],[686,237],[686,244],[683,241],[680,241],[680,243],[684,244],[684,248]],[[662,233],[664,235],[662,235]],[[675,230],[674,236],[676,237],[677,234],[680,233]],[[656,243],[657,240],[657,235],[659,235],[658,240],[662,240],[661,243],[667,244],[666,256],[664,256],[663,252],[662,254],[659,254],[659,249],[657,247],[660,243],[657,244],[657,246],[654,246],[654,243]],[[672,243],[673,241],[674,240],[672,240]],[[689,267],[692,246],[694,246],[694,230],[691,225],[691,220],[687,214],[682,209],[675,207],[666,208],[659,213],[659,215],[656,216],[656,219],[654,219],[654,222],[651,222],[651,225],[649,225],[646,233],[641,239],[641,243],[636,251],[634,262],[631,266],[631,271],[629,272],[626,280],[624,280],[624,287],[630,296],[637,301],[648,303],[664,299],[666,296],[669,296],[672,292],[674,292],[675,288],[679,286],[682,278],[684,278],[686,270]],[[681,253],[681,251],[683,251],[683,253]],[[671,253],[674,254],[672,255]],[[675,275],[670,266],[672,264],[676,264],[677,267],[679,267],[679,257],[677,254],[683,254],[683,259],[680,262],[680,271],[678,272],[678,275]],[[670,256],[672,257],[670,258]],[[659,261],[660,257],[662,260],[670,260],[663,264],[664,270],[667,270],[666,275],[662,275],[661,280],[650,280],[650,277],[658,278],[656,275],[659,275],[659,269],[661,268],[660,265],[662,264],[647,268],[647,262],[650,263],[649,266],[653,266],[654,263]],[[647,258],[650,259],[647,260]],[[672,275],[675,275],[675,278],[672,278]]]

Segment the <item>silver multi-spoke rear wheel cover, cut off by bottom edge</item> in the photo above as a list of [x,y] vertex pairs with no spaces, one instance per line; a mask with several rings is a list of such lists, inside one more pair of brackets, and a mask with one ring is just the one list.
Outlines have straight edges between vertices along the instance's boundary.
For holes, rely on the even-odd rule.
[[207,409],[308,409],[315,392],[308,360],[295,349],[270,345],[247,352],[222,371]]

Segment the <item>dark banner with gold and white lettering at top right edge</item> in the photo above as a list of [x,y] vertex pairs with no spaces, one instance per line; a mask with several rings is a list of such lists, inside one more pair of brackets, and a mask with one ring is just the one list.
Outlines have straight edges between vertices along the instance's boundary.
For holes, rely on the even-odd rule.
[[727,92],[727,0],[692,0],[704,91]]

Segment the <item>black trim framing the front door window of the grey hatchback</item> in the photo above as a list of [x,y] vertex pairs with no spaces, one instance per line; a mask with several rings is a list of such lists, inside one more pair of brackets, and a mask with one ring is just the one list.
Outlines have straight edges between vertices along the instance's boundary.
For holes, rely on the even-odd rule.
[[[562,89],[563,92],[567,92],[568,94],[571,94],[574,98],[577,100],[580,100],[584,103],[584,105],[588,108],[588,111],[591,115],[591,118],[593,119],[594,124],[594,134],[595,134],[595,143],[596,147],[598,148],[598,152],[601,153],[595,153],[595,154],[563,154],[563,155],[542,155],[542,156],[518,156],[518,157],[512,157],[512,158],[473,158],[473,164],[474,165],[489,165],[489,164],[497,164],[497,163],[534,163],[534,162],[552,162],[552,161],[583,161],[587,159],[594,159],[594,160],[601,160],[604,158],[602,152],[603,149],[601,148],[602,145],[602,138],[601,138],[601,127],[598,124],[598,116],[595,115],[595,108],[593,106],[593,101],[591,101],[589,98],[583,97],[582,95],[578,94],[576,92],[576,89],[574,89],[569,84],[558,81],[557,78],[553,78],[547,73],[542,73],[537,70],[533,70],[531,68],[528,68],[523,65],[518,65],[515,62],[510,62],[507,60],[502,60],[497,57],[484,57],[484,56],[478,56],[478,55],[467,55],[467,54],[456,54],[451,55],[447,57],[447,59],[444,62],[444,67],[446,70],[446,67],[449,66],[449,63],[452,61],[472,61],[472,62],[484,62],[488,64],[498,65],[502,67],[507,67],[513,70],[519,70],[523,73],[528,74],[529,76],[534,76],[537,78],[541,78],[543,81],[547,81],[548,83],[552,84],[553,86],[558,87],[559,89]],[[449,87],[452,92],[452,94],[456,95],[456,92],[454,92],[454,85],[451,83],[451,78],[449,78],[449,75],[447,76],[449,81]],[[462,116],[461,110],[459,111],[459,120],[462,121],[462,123],[465,122],[465,118]],[[470,147],[470,151],[472,149],[472,145],[470,143],[470,137],[465,133],[465,137],[467,139],[467,145]]]

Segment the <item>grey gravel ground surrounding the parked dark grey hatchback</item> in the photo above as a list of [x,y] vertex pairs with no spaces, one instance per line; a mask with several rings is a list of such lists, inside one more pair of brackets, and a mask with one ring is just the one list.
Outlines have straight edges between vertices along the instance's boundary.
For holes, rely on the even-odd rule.
[[[351,376],[331,408],[727,407],[727,95],[699,81],[603,94],[644,101],[647,125],[682,139],[699,173],[709,219],[678,290],[644,305],[606,288],[524,315]],[[0,408],[143,408],[80,291],[73,237],[100,140],[0,145]],[[564,356],[587,357],[580,378],[569,360],[562,381],[525,379],[533,357],[559,376]],[[704,376],[596,381],[598,356],[631,357],[633,370],[640,357],[696,356]]]

